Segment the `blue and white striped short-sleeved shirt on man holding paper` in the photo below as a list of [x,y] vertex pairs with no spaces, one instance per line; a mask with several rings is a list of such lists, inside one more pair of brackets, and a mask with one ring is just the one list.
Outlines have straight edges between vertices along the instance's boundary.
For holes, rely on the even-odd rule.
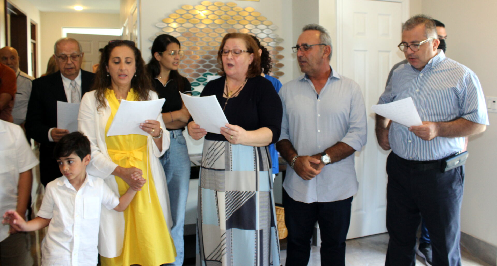
[[[440,51],[418,71],[409,63],[394,70],[378,103],[411,96],[422,121],[447,122],[465,118],[489,124],[485,96],[478,77]],[[425,141],[409,128],[392,122],[388,139],[392,151],[413,161],[439,160],[464,148],[464,137],[436,137]]]

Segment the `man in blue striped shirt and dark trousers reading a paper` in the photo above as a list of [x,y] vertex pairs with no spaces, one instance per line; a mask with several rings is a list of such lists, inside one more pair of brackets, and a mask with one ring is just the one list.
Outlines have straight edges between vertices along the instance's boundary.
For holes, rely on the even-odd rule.
[[407,64],[394,70],[379,103],[412,97],[423,121],[405,127],[377,115],[376,135],[387,160],[386,266],[413,265],[421,216],[430,233],[434,265],[461,265],[460,209],[464,167],[441,164],[464,149],[465,136],[489,124],[485,98],[473,71],[438,51],[435,23],[417,15],[402,27]]

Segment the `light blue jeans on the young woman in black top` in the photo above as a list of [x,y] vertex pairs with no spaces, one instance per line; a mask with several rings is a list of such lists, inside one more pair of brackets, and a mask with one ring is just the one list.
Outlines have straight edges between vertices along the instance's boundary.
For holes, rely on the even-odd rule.
[[186,198],[190,185],[190,157],[186,140],[181,129],[169,131],[171,143],[161,157],[169,191],[172,228],[171,237],[176,248],[176,261],[167,265],[181,266],[184,257],[183,226],[185,221]]

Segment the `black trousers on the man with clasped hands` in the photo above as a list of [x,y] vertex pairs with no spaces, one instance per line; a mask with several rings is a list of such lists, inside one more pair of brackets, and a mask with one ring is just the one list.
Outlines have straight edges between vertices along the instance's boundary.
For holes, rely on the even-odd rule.
[[304,203],[283,189],[285,224],[288,229],[286,266],[307,266],[314,225],[321,231],[321,265],[345,265],[345,238],[350,225],[352,197],[331,202]]

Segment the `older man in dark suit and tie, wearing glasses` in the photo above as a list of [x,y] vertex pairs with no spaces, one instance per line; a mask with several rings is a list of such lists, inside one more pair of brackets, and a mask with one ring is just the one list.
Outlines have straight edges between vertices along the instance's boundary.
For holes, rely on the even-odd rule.
[[26,134],[40,143],[40,179],[46,185],[62,174],[52,153],[55,143],[69,131],[57,128],[57,101],[80,102],[94,74],[81,70],[83,52],[73,38],[59,39],[54,59],[59,71],[33,81],[26,115]]

